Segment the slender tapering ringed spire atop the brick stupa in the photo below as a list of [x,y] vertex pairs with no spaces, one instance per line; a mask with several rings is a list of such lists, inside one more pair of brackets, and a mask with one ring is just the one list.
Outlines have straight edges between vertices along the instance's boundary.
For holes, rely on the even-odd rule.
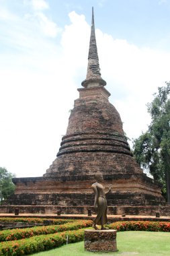
[[101,73],[99,68],[99,57],[97,54],[97,44],[95,40],[95,22],[94,22],[93,7],[92,7],[91,36],[90,36],[90,43],[89,43],[87,75],[86,75],[86,79],[81,83],[81,85],[86,88],[106,85],[106,82],[101,78]]

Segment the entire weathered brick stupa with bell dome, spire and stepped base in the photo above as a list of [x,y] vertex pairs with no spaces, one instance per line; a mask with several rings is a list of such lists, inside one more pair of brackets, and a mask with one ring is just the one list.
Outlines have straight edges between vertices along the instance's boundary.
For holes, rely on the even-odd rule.
[[15,196],[3,212],[87,214],[93,210],[91,184],[103,173],[108,214],[170,215],[161,185],[146,177],[130,152],[122,121],[101,78],[92,13],[87,77],[69,117],[56,160],[43,177],[15,178]]

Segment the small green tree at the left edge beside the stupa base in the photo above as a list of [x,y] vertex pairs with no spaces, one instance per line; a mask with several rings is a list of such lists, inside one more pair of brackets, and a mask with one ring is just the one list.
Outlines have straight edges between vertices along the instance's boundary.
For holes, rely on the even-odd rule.
[[8,172],[6,168],[0,167],[0,185],[1,185],[1,197],[7,199],[13,195],[15,191],[15,185],[12,183],[12,178],[15,174]]

